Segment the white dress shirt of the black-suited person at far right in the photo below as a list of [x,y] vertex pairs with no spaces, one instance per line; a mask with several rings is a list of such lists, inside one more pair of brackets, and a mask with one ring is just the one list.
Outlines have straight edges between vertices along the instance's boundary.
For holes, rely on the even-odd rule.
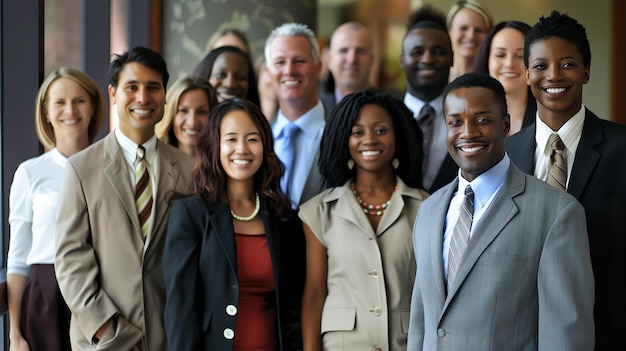
[[[550,165],[550,154],[552,148],[548,145],[548,138],[552,133],[558,133],[559,137],[565,144],[565,163],[567,164],[567,185],[569,185],[569,175],[572,172],[574,166],[574,158],[576,157],[576,149],[578,149],[578,143],[580,142],[580,136],[583,133],[583,124],[585,123],[585,106],[581,106],[580,110],[572,116],[561,128],[557,131],[553,131],[548,127],[541,118],[539,118],[539,112],[537,112],[536,126],[537,131],[535,133],[535,177],[543,180],[548,179],[548,168]],[[567,186],[566,186],[567,188]]]

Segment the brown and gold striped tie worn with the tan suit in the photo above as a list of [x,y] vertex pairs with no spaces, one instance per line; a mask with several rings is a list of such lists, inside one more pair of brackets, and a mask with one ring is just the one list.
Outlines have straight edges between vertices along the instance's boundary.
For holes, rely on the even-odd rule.
[[150,215],[152,214],[152,181],[148,172],[148,161],[145,159],[146,149],[137,147],[137,167],[135,167],[135,204],[139,214],[139,224],[145,240],[150,230]]

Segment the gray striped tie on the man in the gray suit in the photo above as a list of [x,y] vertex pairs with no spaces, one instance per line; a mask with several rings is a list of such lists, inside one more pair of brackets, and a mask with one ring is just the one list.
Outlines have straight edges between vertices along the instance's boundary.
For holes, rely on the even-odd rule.
[[463,258],[465,248],[469,242],[472,229],[472,219],[474,218],[474,191],[471,186],[465,188],[465,197],[460,208],[459,219],[452,230],[450,240],[450,251],[448,253],[448,291],[454,282],[456,272]]

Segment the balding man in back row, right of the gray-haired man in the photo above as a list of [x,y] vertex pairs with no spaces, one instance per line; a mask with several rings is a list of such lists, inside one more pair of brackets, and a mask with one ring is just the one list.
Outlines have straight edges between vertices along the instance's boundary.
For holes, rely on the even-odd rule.
[[372,37],[367,27],[346,22],[335,29],[328,51],[328,69],[334,87],[320,89],[320,100],[327,114],[344,96],[367,89],[373,63]]

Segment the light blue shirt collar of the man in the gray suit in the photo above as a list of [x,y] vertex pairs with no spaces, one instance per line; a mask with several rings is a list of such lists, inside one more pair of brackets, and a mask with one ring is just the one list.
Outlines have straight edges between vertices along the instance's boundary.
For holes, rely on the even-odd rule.
[[469,184],[474,191],[474,203],[480,204],[480,207],[483,207],[489,198],[491,198],[491,196],[504,183],[506,172],[508,171],[510,164],[511,161],[509,156],[505,153],[500,162],[496,163],[495,166],[491,167],[471,182],[468,182],[465,178],[463,178],[461,170],[459,169],[459,187],[457,192],[459,194],[464,194],[465,188]]

